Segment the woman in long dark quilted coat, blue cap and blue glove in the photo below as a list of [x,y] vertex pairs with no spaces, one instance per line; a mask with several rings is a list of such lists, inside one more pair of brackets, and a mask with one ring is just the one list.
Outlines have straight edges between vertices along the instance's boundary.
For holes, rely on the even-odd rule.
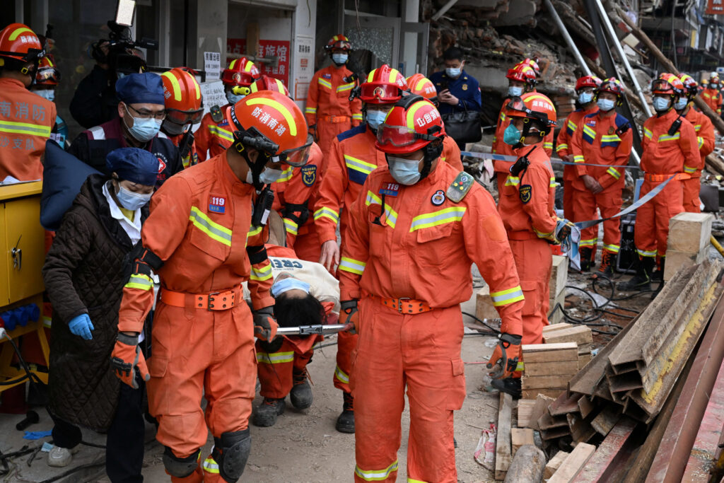
[[111,482],[141,482],[144,382],[139,380],[136,389],[120,384],[109,354],[118,333],[128,256],[148,218],[159,159],[143,149],[119,148],[109,153],[106,165],[111,175],[90,175],[83,183],[43,266],[53,305],[48,409],[54,447],[47,461],[68,466],[84,451],[80,427],[88,427],[106,434]]

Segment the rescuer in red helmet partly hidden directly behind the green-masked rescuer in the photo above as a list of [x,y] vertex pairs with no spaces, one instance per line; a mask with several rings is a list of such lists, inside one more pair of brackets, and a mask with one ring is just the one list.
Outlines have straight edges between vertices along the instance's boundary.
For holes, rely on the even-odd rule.
[[[514,96],[522,96],[523,93],[536,92],[536,67],[537,64],[531,64],[530,59],[526,59],[523,62],[516,64],[513,69],[508,70],[508,74],[505,75],[505,77],[508,78],[509,85],[508,98],[512,98]],[[513,148],[511,148],[510,145],[506,144],[503,141],[505,130],[508,129],[508,125],[510,125],[510,119],[508,119],[508,117],[505,115],[506,103],[507,99],[503,102],[503,107],[500,109],[500,114],[498,114],[497,126],[495,127],[495,135],[493,136],[492,152],[494,154],[514,156],[515,153],[513,152]],[[543,142],[543,148],[546,154],[550,157],[550,155],[553,153],[552,130],[546,136]],[[502,190],[502,187],[505,184],[505,178],[508,177],[509,168],[510,163],[506,163],[503,161],[493,161],[493,169],[497,173],[497,188],[499,194],[500,190]]]

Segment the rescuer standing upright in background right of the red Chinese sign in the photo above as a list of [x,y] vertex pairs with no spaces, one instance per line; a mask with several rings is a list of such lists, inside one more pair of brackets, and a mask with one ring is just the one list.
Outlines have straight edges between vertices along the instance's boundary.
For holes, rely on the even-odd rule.
[[334,35],[324,50],[332,59],[332,65],[314,72],[304,113],[309,129],[315,133],[321,152],[326,157],[329,156],[335,136],[362,123],[362,103],[357,98],[350,101],[350,93],[358,85],[353,75],[355,72],[347,67],[352,51],[350,39],[342,34]]

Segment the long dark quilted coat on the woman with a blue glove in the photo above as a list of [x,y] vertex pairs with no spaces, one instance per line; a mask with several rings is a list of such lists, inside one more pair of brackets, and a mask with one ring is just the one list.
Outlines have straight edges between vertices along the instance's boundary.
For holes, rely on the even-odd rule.
[[[103,195],[102,175],[90,175],[46,256],[43,280],[53,305],[50,408],[60,418],[90,429],[109,427],[116,411],[119,379],[111,372],[118,309],[127,281],[132,245]],[[142,221],[148,208],[142,209]],[[68,323],[88,314],[93,339],[73,335]]]

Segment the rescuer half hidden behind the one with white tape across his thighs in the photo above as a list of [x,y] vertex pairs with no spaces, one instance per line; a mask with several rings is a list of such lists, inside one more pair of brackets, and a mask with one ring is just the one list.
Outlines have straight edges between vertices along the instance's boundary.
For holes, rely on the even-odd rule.
[[699,86],[696,85],[696,80],[686,74],[681,75],[679,78],[686,90],[686,96],[679,98],[674,109],[676,109],[676,112],[683,116],[684,119],[694,125],[699,154],[702,156],[702,162],[699,163],[696,169],[693,169],[694,167],[684,167],[684,172],[691,175],[691,178],[681,181],[683,184],[683,211],[699,213],[699,211],[701,211],[699,206],[701,203],[701,201],[699,201],[699,190],[701,189],[702,169],[704,169],[707,155],[714,151],[714,125],[711,119],[709,119],[709,116],[694,109],[694,98],[699,92]]

